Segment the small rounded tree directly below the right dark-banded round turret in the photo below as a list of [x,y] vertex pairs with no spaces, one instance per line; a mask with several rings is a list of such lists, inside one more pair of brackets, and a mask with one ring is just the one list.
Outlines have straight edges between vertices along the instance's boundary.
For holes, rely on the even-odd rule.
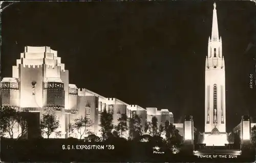
[[55,114],[47,113],[42,115],[40,128],[41,133],[47,135],[47,138],[59,127],[59,120]]

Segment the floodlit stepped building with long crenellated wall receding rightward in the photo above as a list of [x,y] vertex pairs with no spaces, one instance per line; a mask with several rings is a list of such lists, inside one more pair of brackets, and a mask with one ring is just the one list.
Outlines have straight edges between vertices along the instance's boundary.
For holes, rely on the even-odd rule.
[[[66,138],[69,137],[68,124],[81,116],[92,120],[91,131],[99,135],[100,115],[104,109],[113,113],[114,125],[124,113],[128,118],[134,114],[140,115],[142,125],[146,121],[150,122],[153,116],[161,123],[166,120],[173,123],[173,114],[167,109],[144,109],[70,84],[65,64],[61,63],[57,51],[48,46],[25,47],[24,53],[20,54],[20,59],[12,67],[12,78],[3,78],[1,81],[1,96],[3,106],[30,113],[31,126],[39,124],[42,114],[55,113],[60,121],[60,137]],[[34,125],[28,135],[36,136],[33,132],[38,130],[38,125]],[[54,134],[51,136],[54,137]]]

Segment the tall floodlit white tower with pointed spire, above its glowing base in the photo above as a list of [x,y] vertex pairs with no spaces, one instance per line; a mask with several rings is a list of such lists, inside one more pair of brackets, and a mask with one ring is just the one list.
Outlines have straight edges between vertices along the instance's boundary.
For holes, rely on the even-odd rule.
[[[225,64],[219,37],[216,3],[205,61],[205,133],[226,133]],[[215,132],[216,131],[216,132]]]

